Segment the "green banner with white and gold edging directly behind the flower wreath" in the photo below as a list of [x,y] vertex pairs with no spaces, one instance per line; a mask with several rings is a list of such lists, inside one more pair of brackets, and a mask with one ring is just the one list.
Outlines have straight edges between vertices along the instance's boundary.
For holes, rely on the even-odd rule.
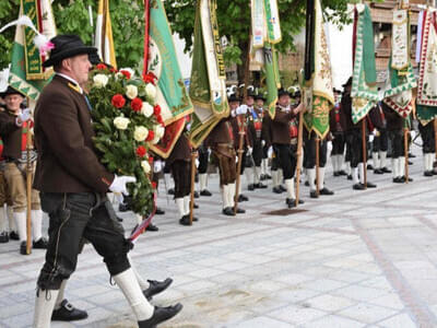
[[192,104],[188,96],[180,73],[172,32],[162,0],[153,0],[150,8],[150,59],[149,71],[158,79],[158,89],[170,114],[163,115],[165,125],[178,120],[192,113]]

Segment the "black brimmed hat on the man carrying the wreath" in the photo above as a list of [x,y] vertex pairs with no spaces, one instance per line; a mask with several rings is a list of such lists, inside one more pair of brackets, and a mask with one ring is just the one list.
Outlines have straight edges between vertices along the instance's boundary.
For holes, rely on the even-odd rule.
[[92,55],[97,52],[97,48],[85,46],[78,35],[57,35],[50,39],[55,48],[50,51],[50,57],[43,66],[50,67],[61,62],[66,58],[78,55]]

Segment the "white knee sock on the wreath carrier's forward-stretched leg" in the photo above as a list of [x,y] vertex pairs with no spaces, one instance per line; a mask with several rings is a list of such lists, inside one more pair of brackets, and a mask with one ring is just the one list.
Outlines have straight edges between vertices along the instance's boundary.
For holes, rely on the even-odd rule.
[[153,315],[154,307],[144,297],[133,270],[128,269],[113,278],[125,294],[129,305],[132,307],[137,320],[142,321],[150,319]]

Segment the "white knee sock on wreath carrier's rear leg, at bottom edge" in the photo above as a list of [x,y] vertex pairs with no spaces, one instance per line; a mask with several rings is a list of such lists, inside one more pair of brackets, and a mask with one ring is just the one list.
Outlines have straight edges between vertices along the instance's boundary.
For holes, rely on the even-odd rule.
[[59,291],[37,291],[35,298],[34,328],[50,328],[51,314],[58,300]]

